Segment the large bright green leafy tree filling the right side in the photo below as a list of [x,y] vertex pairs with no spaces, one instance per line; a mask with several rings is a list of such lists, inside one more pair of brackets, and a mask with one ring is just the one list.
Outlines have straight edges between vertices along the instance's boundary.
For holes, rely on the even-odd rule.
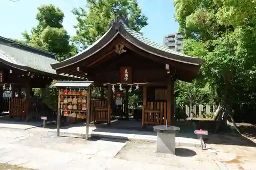
[[208,82],[225,106],[255,98],[256,2],[176,0],[176,20],[187,40],[183,53],[201,57],[200,82]]

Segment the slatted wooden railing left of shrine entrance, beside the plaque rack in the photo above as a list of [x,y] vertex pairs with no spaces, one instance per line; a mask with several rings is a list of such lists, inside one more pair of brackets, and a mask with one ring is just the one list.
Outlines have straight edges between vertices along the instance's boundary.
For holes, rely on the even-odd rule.
[[108,122],[110,118],[110,108],[108,106],[107,100],[92,100],[91,101],[91,114],[90,119],[91,122]]

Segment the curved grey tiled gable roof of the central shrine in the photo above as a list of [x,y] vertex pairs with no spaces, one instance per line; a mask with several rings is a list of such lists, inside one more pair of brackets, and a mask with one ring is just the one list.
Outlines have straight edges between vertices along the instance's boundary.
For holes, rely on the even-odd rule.
[[[162,46],[150,39],[145,38],[142,34],[131,29],[125,18],[119,16],[117,17],[116,21],[112,23],[110,29],[92,45],[86,48],[86,50],[62,62],[53,63],[51,64],[51,66],[53,69],[58,70],[68,67],[70,65],[79,65],[78,62],[86,60],[90,56],[93,56],[94,54],[99,52],[106,45],[110,44],[110,42],[118,35],[123,37],[127,42],[136,46],[140,50],[154,55],[156,58],[160,58],[169,63],[174,61],[178,63],[183,63],[185,65],[193,65],[193,69],[196,72],[199,71],[200,66],[203,63],[203,59],[190,57],[182,53],[178,53],[168,47]],[[59,73],[61,73],[61,71]]]

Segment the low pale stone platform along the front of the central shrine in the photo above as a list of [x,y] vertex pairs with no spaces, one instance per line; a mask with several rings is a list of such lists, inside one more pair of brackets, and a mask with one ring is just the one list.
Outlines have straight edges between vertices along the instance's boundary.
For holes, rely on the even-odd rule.
[[[49,132],[57,132],[57,129],[52,129]],[[67,137],[85,137],[86,124],[74,124],[60,129],[61,136]],[[89,127],[89,135],[93,137],[126,139],[131,141],[148,141],[156,142],[156,133],[153,131],[138,131],[125,129],[108,129]],[[176,146],[181,147],[200,147],[200,140],[194,133],[179,133],[176,135]]]

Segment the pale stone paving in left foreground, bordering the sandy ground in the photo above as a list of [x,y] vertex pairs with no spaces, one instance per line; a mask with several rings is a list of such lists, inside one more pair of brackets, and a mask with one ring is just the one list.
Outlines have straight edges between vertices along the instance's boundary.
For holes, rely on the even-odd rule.
[[190,170],[184,167],[166,166],[158,162],[145,164],[139,160],[115,158],[114,156],[125,144],[125,141],[120,139],[86,141],[82,138],[56,137],[42,128],[26,131],[0,129],[0,162],[42,170]]

